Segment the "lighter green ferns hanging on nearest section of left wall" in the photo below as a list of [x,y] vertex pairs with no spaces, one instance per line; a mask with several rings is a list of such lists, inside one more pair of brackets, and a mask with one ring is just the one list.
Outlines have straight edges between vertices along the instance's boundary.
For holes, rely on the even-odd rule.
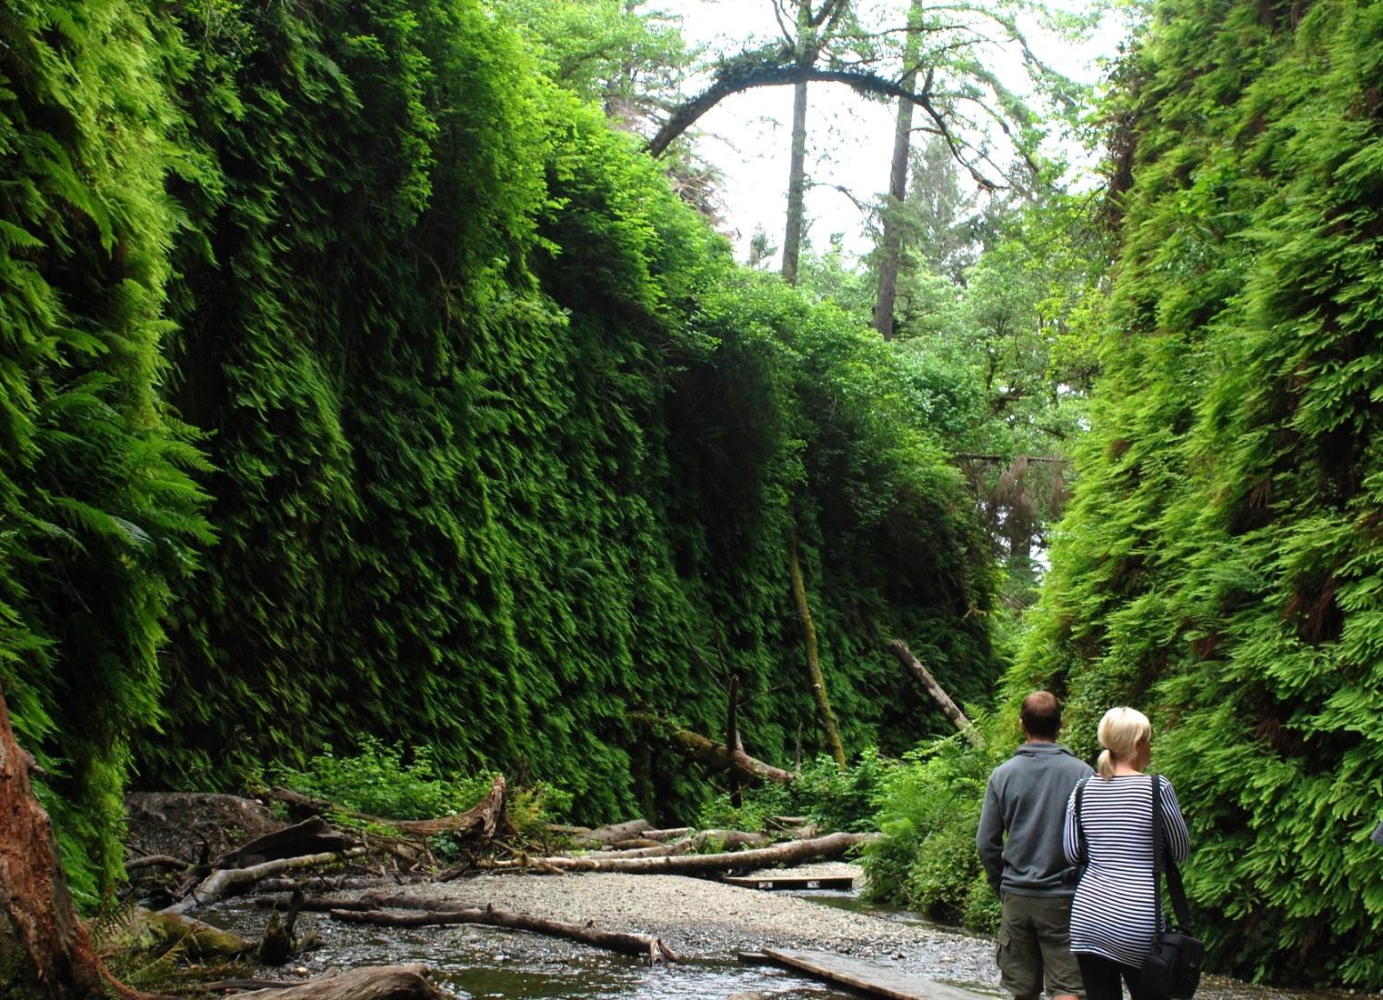
[[120,870],[170,586],[207,541],[158,394],[180,53],[129,4],[0,10],[0,687],[87,903]]

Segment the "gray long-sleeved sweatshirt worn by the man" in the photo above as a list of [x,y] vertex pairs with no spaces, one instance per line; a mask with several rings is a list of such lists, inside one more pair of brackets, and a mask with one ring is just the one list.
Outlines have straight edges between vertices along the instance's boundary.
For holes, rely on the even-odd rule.
[[975,846],[996,892],[1069,896],[1076,891],[1061,831],[1072,790],[1093,773],[1058,743],[1025,743],[994,768]]

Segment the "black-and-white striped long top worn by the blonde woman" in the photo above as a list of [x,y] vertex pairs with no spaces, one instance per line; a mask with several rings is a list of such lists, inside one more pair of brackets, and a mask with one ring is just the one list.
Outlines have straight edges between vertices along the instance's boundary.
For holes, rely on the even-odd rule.
[[[1191,844],[1171,781],[1162,783],[1162,815],[1167,856],[1184,862]],[[1099,954],[1124,965],[1142,965],[1153,934],[1152,776],[1098,775],[1084,784],[1080,827],[1076,794],[1066,802],[1062,849],[1072,864],[1086,862],[1070,903],[1070,950]]]

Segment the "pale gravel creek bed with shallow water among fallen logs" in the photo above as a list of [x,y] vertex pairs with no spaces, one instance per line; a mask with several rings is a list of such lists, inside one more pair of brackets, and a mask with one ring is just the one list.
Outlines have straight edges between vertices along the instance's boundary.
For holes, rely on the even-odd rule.
[[[846,863],[798,866],[794,876],[824,878],[860,869]],[[459,996],[528,997],[528,996],[628,996],[628,997],[837,997],[824,988],[794,992],[774,988],[773,982],[744,972],[744,983],[734,970],[725,971],[740,952],[762,947],[801,947],[831,950],[891,965],[900,972],[939,979],[978,993],[1007,996],[999,989],[999,971],[993,960],[993,941],[960,929],[940,928],[906,913],[871,910],[849,892],[781,892],[750,889],[683,876],[567,873],[567,874],[480,874],[451,882],[400,887],[412,896],[462,900],[496,909],[530,913],[573,924],[593,921],[606,931],[656,935],[682,960],[674,968],[694,970],[698,963],[722,970],[705,981],[704,992],[685,986],[682,992],[654,988],[646,979],[628,985],[606,985],[602,992],[575,986],[549,985],[546,992],[528,986],[506,988],[491,983],[485,989],[465,986]],[[357,893],[343,893],[354,896]],[[223,920],[242,934],[253,934],[257,913],[243,903]],[[535,934],[510,932],[487,927],[383,928],[347,927],[322,914],[303,914],[300,931],[314,931],[322,947],[304,953],[299,964],[281,975],[318,975],[326,968],[393,961],[425,961],[445,968],[487,964],[510,970],[549,970],[553,975],[570,970],[624,970],[639,960],[603,956],[574,942]],[[604,963],[604,965],[602,964]],[[649,975],[644,972],[644,975]],[[680,975],[680,974],[679,974]],[[763,974],[759,974],[761,976]],[[531,975],[530,975],[531,978]],[[733,983],[733,985],[727,985]],[[690,992],[686,992],[690,990]],[[1205,976],[1200,1000],[1369,1000],[1383,994],[1354,992],[1294,992],[1241,983],[1220,976]]]

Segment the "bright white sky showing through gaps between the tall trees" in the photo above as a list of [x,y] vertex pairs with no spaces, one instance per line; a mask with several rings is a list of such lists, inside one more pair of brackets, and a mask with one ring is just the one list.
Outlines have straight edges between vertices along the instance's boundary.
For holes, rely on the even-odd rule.
[[[904,11],[906,0],[898,0],[896,7]],[[679,14],[687,41],[714,51],[737,51],[747,39],[779,33],[772,0],[650,0],[647,10]],[[1032,44],[1055,68],[1093,82],[1098,79],[1097,59],[1115,51],[1117,37],[1117,30],[1109,29],[1080,48],[1041,37],[1033,37]],[[896,105],[867,101],[838,83],[813,83],[808,100],[806,163],[813,183],[806,191],[808,235],[824,249],[830,235],[841,232],[848,250],[864,253],[871,246],[864,217],[834,185],[849,189],[863,205],[887,191]],[[773,246],[783,242],[791,120],[792,89],[759,87],[727,97],[694,126],[701,133],[701,155],[725,173],[723,228],[741,260],[759,227]]]

